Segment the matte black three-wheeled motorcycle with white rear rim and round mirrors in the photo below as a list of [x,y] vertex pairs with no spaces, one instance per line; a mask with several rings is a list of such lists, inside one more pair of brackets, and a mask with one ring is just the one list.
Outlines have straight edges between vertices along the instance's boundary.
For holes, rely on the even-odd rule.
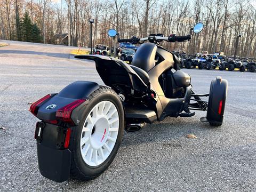
[[[199,33],[203,23],[194,26]],[[116,36],[114,29],[109,36]],[[118,42],[141,43],[132,65],[104,55],[77,55],[94,60],[105,83],[77,81],[59,93],[34,102],[30,111],[36,124],[38,165],[41,174],[62,182],[70,176],[91,180],[111,164],[123,131],[139,131],[145,124],[165,117],[191,117],[191,110],[207,110],[201,121],[220,126],[227,95],[227,81],[213,79],[209,94],[196,94],[190,76],[179,70],[179,59],[158,44],[189,41],[190,35],[164,37],[153,34]],[[149,41],[149,43],[145,43]],[[209,97],[209,101],[201,100]]]

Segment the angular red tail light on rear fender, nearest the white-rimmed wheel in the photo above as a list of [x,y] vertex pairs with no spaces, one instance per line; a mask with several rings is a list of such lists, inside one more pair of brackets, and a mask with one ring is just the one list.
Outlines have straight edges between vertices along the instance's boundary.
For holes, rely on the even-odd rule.
[[81,105],[84,101],[85,99],[78,99],[74,102],[69,103],[65,107],[60,108],[56,112],[56,117],[62,122],[74,124],[73,120],[71,119],[71,113],[77,106]]

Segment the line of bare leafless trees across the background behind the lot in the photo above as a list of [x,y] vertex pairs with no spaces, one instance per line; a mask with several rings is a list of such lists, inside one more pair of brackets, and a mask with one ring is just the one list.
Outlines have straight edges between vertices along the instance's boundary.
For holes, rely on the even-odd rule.
[[[237,49],[241,57],[256,57],[256,9],[251,0],[0,0],[0,3],[1,39],[31,41],[27,37],[33,30],[42,36],[38,36],[37,42],[62,42],[61,34],[67,33],[68,45],[90,46],[92,18],[93,44],[113,46],[113,38],[107,36],[110,28],[116,29],[121,38],[154,33],[187,35],[195,23],[203,22],[204,30],[193,34],[190,42],[162,45],[169,50],[183,47],[189,53],[205,50],[226,55],[234,55]],[[20,29],[21,14],[31,21],[27,35]]]

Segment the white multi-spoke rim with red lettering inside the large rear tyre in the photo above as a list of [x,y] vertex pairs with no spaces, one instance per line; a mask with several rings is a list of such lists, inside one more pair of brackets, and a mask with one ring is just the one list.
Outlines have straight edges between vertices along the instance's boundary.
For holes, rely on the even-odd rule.
[[113,150],[119,130],[116,106],[110,101],[95,105],[86,117],[80,138],[80,150],[89,166],[103,163]]

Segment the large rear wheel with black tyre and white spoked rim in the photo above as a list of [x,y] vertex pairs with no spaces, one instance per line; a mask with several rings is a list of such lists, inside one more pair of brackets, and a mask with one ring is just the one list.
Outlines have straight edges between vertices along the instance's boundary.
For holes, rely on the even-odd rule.
[[71,175],[91,180],[103,173],[114,160],[124,130],[124,111],[114,90],[100,86],[83,107],[75,127]]

